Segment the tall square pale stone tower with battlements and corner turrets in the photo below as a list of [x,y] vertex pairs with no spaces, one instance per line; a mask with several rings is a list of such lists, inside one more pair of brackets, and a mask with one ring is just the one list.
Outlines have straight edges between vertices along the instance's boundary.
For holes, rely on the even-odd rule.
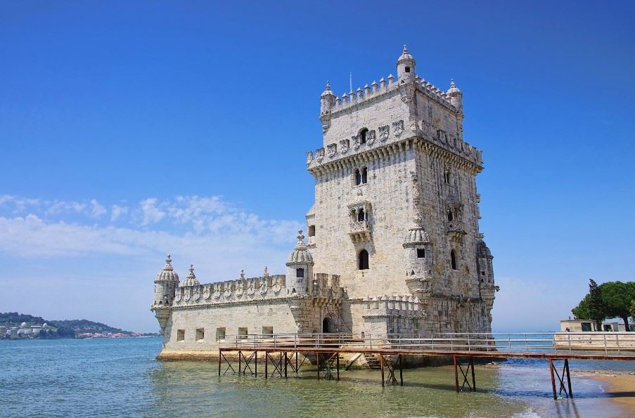
[[415,301],[423,320],[378,330],[489,332],[498,287],[478,226],[482,153],[463,140],[454,80],[432,86],[404,46],[397,80],[340,97],[327,84],[320,121],[323,147],[307,152],[309,249],[315,271],[340,275],[352,324],[376,318],[357,305]]

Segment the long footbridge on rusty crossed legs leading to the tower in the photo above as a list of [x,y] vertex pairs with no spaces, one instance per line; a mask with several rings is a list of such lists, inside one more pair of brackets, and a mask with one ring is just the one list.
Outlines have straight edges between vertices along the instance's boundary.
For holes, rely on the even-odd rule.
[[[309,361],[317,365],[317,379],[339,380],[340,354],[379,358],[382,386],[397,384],[397,369],[403,386],[406,356],[451,358],[457,392],[466,386],[476,390],[475,359],[544,359],[549,361],[553,399],[558,399],[573,397],[569,360],[635,360],[635,332],[236,335],[220,343],[219,376],[230,370],[257,376],[259,353],[265,379],[276,375],[287,378],[289,370],[297,374]],[[233,368],[236,360],[238,370]],[[557,367],[560,361],[562,370]]]

